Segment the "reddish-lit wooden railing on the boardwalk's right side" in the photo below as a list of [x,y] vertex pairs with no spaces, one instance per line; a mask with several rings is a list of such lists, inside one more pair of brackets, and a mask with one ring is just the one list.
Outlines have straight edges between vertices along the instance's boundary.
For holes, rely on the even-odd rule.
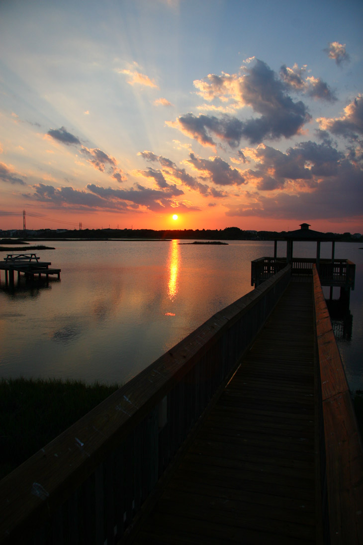
[[[325,543],[363,543],[363,449],[350,392],[316,267],[313,267],[318,355]],[[329,534],[329,536],[328,536]],[[330,540],[330,541],[329,541]]]

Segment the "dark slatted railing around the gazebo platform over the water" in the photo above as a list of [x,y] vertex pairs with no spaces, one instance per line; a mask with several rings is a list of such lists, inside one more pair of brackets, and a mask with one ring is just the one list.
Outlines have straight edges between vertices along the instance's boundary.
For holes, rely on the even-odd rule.
[[[318,265],[322,286],[340,286],[354,289],[355,264],[349,259],[292,259],[292,275],[312,274],[313,265]],[[286,267],[286,258],[261,257],[251,262],[251,286],[258,286],[267,278]]]

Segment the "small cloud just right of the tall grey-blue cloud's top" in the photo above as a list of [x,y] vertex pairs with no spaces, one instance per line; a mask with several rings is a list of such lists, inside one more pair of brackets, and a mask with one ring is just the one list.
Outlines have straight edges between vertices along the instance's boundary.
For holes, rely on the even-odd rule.
[[306,65],[299,68],[295,63],[292,68],[288,68],[284,64],[280,69],[280,77],[287,88],[305,93],[315,99],[327,100],[328,102],[337,100],[333,90],[330,89],[327,83],[313,76],[305,77],[305,72]]

